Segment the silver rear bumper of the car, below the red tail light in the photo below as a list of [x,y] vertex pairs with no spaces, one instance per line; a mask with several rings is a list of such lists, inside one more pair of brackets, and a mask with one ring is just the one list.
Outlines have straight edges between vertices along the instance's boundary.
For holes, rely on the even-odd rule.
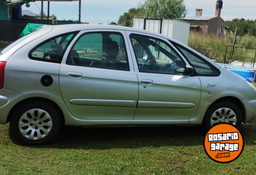
[[12,90],[0,90],[0,124],[7,123],[7,117],[12,107],[25,98]]

